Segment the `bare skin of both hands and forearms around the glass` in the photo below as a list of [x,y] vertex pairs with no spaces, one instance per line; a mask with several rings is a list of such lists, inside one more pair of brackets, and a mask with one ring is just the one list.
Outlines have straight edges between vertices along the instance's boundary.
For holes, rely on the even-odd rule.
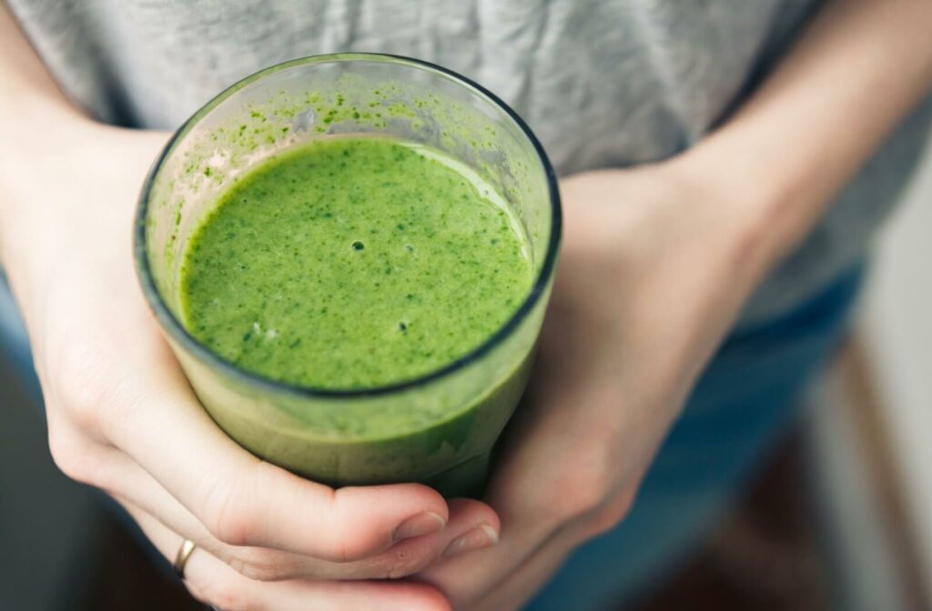
[[[0,256],[52,454],[120,499],[167,557],[181,536],[197,541],[186,584],[220,608],[517,608],[569,551],[624,519],[747,296],[923,97],[930,22],[932,4],[916,0],[829,3],[702,143],[565,179],[563,258],[521,443],[487,504],[446,504],[416,485],[335,493],[256,462],[212,426],[127,254],[132,203],[165,135],[79,115],[0,18],[0,117],[17,117],[0,118]],[[445,528],[391,547],[394,527],[421,511]]]

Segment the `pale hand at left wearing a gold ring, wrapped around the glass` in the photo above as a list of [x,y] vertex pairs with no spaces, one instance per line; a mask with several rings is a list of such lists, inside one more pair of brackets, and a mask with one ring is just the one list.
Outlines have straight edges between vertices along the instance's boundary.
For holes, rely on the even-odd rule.
[[194,541],[186,584],[226,611],[448,608],[427,585],[338,580],[418,572],[464,540],[474,546],[473,529],[498,532],[492,509],[447,504],[418,484],[308,482],[228,439],[188,387],[130,248],[134,204],[166,138],[82,120],[54,150],[21,156],[29,163],[0,159],[12,210],[2,254],[55,462],[115,497],[167,558]]

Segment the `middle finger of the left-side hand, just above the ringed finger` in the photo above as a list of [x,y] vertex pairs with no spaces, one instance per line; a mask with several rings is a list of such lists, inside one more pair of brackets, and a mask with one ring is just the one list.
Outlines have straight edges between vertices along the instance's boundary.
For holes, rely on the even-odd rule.
[[[427,536],[405,539],[380,554],[349,563],[333,563],[289,551],[231,546],[219,541],[198,519],[166,492],[130,457],[112,450],[106,457],[115,480],[105,486],[112,496],[157,516],[159,522],[197,543],[213,556],[246,577],[281,580],[295,577],[315,579],[373,579],[406,577],[423,570],[475,529],[491,529],[496,537],[498,516],[484,503],[472,499],[450,501],[450,520],[445,529]],[[488,541],[491,543],[491,541]]]

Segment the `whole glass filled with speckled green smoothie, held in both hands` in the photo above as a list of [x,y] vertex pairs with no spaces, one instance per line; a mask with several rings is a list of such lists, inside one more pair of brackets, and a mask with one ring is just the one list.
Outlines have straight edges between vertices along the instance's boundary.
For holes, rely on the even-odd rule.
[[158,157],[144,294],[217,425],[317,482],[481,494],[528,382],[560,205],[528,126],[444,68],[348,53],[226,89]]

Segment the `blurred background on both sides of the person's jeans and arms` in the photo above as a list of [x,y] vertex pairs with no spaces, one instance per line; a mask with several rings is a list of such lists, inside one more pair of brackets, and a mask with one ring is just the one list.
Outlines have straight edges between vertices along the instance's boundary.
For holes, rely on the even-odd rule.
[[[625,609],[932,608],[932,148],[922,168],[802,420],[703,547]],[[202,608],[56,470],[29,364],[5,354],[0,611]]]

